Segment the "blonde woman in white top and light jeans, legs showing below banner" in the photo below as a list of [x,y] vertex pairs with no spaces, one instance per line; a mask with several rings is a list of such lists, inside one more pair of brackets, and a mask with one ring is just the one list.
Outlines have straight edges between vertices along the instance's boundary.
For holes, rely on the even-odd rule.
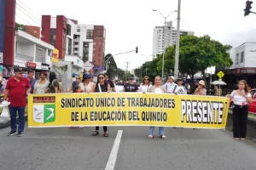
[[[149,93],[155,93],[155,94],[164,94],[167,93],[166,88],[163,88],[161,86],[162,80],[161,77],[154,77],[154,86],[150,87],[148,89]],[[165,135],[165,129],[164,127],[159,127],[159,134],[160,138],[166,139]],[[149,127],[149,135],[148,138],[152,139],[154,135],[154,127]]]

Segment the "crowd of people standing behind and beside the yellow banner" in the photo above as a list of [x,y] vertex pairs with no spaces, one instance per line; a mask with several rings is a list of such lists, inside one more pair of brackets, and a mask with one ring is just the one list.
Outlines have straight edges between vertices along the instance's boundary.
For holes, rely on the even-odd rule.
[[[11,117],[11,131],[9,136],[17,134],[23,135],[25,127],[25,108],[27,103],[28,94],[58,94],[61,93],[61,83],[57,80],[55,72],[49,72],[49,78],[47,73],[42,71],[38,80],[34,79],[33,71],[28,71],[28,77],[22,77],[22,71],[15,69],[15,76],[10,77],[4,88],[4,100],[9,99],[9,112]],[[85,73],[83,79],[75,77],[75,81],[72,82],[71,88],[68,92],[73,93],[110,93],[116,92],[115,84],[108,78],[108,74],[99,74],[97,76],[97,82],[93,82],[93,76]],[[0,75],[0,81],[1,79]],[[138,86],[134,82],[134,78],[131,77],[129,82],[125,83],[122,92],[125,93],[155,93],[155,94],[191,94],[189,84],[183,86],[183,79],[177,78],[177,83],[174,77],[168,77],[166,83],[163,84],[161,77],[154,77],[154,83],[150,82],[149,77],[143,77],[143,82]],[[195,95],[207,95],[207,89],[205,82],[201,80],[198,82],[198,88],[193,93]],[[233,124],[234,124],[234,138],[245,139],[247,134],[247,114],[248,103],[252,102],[252,95],[249,92],[247,82],[241,80],[239,82],[239,88],[234,90],[226,97],[234,99],[235,107],[233,108]],[[19,114],[19,127],[16,124],[16,113]],[[82,128],[82,127],[71,127]],[[93,136],[99,134],[99,127],[96,127],[92,133]],[[166,139],[164,127],[159,127],[160,138]],[[103,136],[108,137],[108,127],[103,127]],[[149,127],[148,138],[154,137],[154,127]]]

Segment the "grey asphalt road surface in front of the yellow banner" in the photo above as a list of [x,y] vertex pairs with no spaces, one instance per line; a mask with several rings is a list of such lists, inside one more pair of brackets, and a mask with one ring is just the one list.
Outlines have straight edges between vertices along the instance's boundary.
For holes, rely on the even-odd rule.
[[[115,170],[256,167],[256,144],[236,141],[224,130],[166,128],[167,139],[148,139],[148,127],[109,127],[109,138],[92,137],[93,130],[30,129],[19,138],[7,137],[9,127],[4,128],[0,130],[0,170],[104,170],[108,163],[108,170],[113,169],[111,163]],[[118,131],[121,138],[116,137]],[[116,161],[114,151],[118,151]]]

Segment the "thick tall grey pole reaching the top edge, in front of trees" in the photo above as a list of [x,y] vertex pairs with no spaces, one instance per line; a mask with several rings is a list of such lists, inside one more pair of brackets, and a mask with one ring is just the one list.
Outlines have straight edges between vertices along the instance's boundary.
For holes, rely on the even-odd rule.
[[176,54],[175,54],[175,65],[174,65],[174,77],[178,77],[178,57],[179,57],[179,34],[180,34],[180,8],[181,0],[178,0],[177,6],[177,39],[176,39]]

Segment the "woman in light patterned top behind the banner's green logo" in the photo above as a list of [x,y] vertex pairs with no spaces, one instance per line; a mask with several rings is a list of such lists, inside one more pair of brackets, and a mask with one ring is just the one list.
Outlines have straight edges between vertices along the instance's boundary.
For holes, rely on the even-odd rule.
[[46,79],[47,73],[40,72],[40,79],[35,82],[33,94],[45,94],[49,86],[49,81]]

